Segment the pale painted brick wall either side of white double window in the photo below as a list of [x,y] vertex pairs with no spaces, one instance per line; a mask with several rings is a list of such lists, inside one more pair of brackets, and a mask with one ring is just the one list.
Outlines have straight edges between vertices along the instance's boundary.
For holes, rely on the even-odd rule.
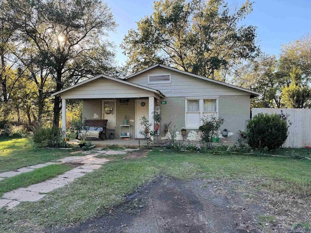
[[[164,123],[170,123],[171,132],[176,126],[177,131],[181,131],[185,127],[185,98],[184,97],[169,97],[163,100],[167,104],[160,104],[160,112],[162,114],[162,122],[160,126],[160,136],[164,137]],[[221,96],[219,97],[219,116],[225,118],[225,123],[221,126],[220,131],[227,129],[234,133],[233,136],[226,140],[237,140],[239,130],[245,129],[246,121],[250,119],[250,97],[244,96]],[[187,129],[187,135],[190,131],[199,132],[197,129]]]

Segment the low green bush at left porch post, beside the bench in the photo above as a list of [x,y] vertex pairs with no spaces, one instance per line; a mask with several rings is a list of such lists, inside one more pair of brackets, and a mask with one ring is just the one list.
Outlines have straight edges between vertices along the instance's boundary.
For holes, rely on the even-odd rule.
[[65,140],[62,139],[62,136],[62,129],[58,127],[37,128],[34,132],[33,140],[39,147],[67,147],[67,144]]

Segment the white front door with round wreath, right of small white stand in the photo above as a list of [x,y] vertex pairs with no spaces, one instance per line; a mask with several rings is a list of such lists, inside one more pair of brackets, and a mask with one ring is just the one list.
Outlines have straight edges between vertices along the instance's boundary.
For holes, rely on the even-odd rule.
[[135,100],[135,138],[144,138],[139,131],[144,128],[140,125],[140,119],[143,116],[146,116],[149,119],[149,101],[146,100]]

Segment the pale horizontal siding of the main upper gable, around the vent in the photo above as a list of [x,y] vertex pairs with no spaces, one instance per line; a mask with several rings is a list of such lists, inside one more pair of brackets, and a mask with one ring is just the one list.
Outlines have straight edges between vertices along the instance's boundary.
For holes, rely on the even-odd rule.
[[[171,74],[171,83],[148,84],[147,78],[150,74]],[[217,97],[232,95],[250,95],[218,83],[211,83],[196,77],[182,74],[163,67],[155,67],[137,76],[129,78],[127,81],[142,86],[150,87],[161,91],[166,97]]]

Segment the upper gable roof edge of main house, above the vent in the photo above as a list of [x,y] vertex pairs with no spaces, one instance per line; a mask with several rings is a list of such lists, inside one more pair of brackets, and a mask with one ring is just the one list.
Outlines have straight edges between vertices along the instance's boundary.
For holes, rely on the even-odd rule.
[[211,82],[211,83],[217,83],[217,84],[221,84],[221,85],[224,85],[224,86],[228,86],[228,87],[231,87],[231,88],[234,88],[234,89],[238,89],[238,90],[241,90],[241,91],[245,91],[245,92],[248,92],[251,94],[251,98],[253,97],[256,97],[256,96],[260,96],[260,93],[256,92],[256,91],[251,91],[251,90],[248,90],[248,89],[245,89],[245,88],[242,88],[242,87],[239,87],[239,86],[235,86],[235,85],[232,85],[232,84],[228,84],[228,83],[224,83],[224,82],[220,82],[220,81],[217,81],[217,80],[213,80],[213,79],[209,79],[209,78],[206,78],[206,77],[203,77],[203,76],[200,76],[200,75],[197,75],[197,74],[192,74],[190,72],[187,72],[187,71],[182,71],[180,69],[177,69],[177,68],[173,68],[173,67],[169,67],[169,66],[165,66],[165,65],[162,65],[162,64],[155,64],[151,67],[148,67],[148,68],[145,68],[143,70],[140,70],[128,77],[125,78],[125,80],[129,79],[129,78],[132,78],[134,76],[137,76],[138,74],[141,74],[143,72],[146,72],[150,69],[153,69],[155,67],[163,67],[163,68],[166,68],[166,69],[170,69],[170,70],[173,70],[173,71],[176,71],[176,72],[179,72],[179,73],[182,73],[182,74],[186,74],[186,75],[189,75],[189,76],[192,76],[192,77],[195,77],[195,78],[198,78],[198,79],[203,79],[203,80],[206,80],[208,82]]

